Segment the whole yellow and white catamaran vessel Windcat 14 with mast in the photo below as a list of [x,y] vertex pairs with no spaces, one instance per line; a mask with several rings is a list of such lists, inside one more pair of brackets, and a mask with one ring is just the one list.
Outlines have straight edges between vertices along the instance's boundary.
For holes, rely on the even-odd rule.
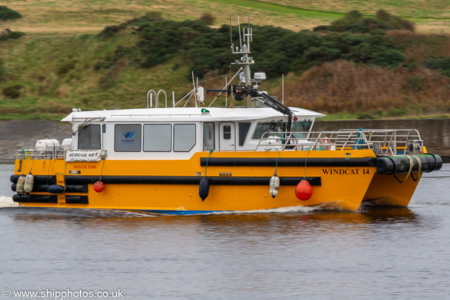
[[[422,172],[442,160],[414,129],[314,132],[324,114],[287,107],[251,77],[251,29],[231,51],[240,69],[223,89],[226,107],[78,111],[62,121],[72,138],[18,150],[13,200],[29,207],[137,209],[191,214],[294,205],[358,209],[362,201],[406,206]],[[231,84],[239,78],[242,85]],[[150,103],[148,107],[148,94]],[[189,100],[187,98],[186,101]],[[237,106],[246,100],[246,106]]]

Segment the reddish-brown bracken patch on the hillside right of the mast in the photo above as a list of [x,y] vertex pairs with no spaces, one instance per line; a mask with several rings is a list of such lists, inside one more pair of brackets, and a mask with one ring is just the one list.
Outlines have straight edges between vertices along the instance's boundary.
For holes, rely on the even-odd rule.
[[336,60],[302,75],[289,74],[284,88],[289,105],[331,114],[328,119],[450,116],[450,78],[426,68],[385,69]]

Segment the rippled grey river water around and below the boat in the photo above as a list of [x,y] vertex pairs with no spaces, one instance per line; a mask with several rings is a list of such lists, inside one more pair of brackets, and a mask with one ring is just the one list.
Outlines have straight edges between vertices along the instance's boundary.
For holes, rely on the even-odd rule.
[[[0,164],[1,206],[12,205],[12,170]],[[123,299],[449,299],[449,178],[444,164],[423,175],[407,208],[358,212],[2,207],[0,290],[23,299],[67,290]]]

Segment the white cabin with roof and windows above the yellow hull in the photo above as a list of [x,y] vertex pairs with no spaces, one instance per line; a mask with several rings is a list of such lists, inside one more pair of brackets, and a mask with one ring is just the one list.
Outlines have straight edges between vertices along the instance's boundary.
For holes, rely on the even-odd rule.
[[[292,129],[306,137],[323,114],[292,109]],[[199,151],[255,150],[266,132],[281,137],[286,117],[271,108],[151,108],[120,111],[76,111],[71,150],[107,152],[110,159],[187,159]],[[124,114],[127,113],[127,114]],[[305,132],[305,133],[301,133]],[[264,149],[258,148],[263,151]]]

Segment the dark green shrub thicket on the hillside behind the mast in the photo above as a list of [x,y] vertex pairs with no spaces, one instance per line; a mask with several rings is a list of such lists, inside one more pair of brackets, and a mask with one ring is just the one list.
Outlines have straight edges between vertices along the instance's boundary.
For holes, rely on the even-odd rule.
[[[352,12],[346,20],[355,19],[361,19],[361,15]],[[236,32],[237,28],[232,30]],[[380,28],[374,29],[372,34],[320,34],[309,30],[292,32],[257,25],[253,26],[253,30],[258,32],[258,42],[251,46],[252,55],[257,57],[253,68],[263,70],[270,76],[303,71],[312,65],[336,59],[392,67],[405,60],[405,56],[395,48],[392,38]],[[226,71],[229,62],[236,58],[223,53],[223,48],[229,45],[227,26],[210,28],[200,21],[162,20],[144,23],[136,28],[136,32],[139,35],[136,49],[143,57],[140,65],[145,68],[176,55],[191,65],[195,75],[203,76],[211,70]],[[125,52],[124,49],[117,49],[115,55]],[[96,69],[101,67],[104,66],[95,66]]]

